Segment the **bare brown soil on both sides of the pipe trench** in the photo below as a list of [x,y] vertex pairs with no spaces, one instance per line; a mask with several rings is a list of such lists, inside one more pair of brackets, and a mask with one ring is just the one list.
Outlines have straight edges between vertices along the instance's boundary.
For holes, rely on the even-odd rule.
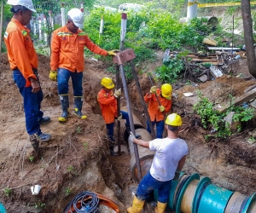
[[[154,63],[142,65],[143,70],[151,72],[155,66],[160,66],[162,55],[159,53]],[[236,62],[233,68],[233,95],[240,96],[255,83],[255,79],[247,70],[246,60]],[[81,121],[72,116],[67,124],[60,124],[57,118],[61,115],[61,106],[56,83],[49,80],[49,57],[39,55],[38,72],[44,91],[42,110],[52,119],[51,123],[42,126],[42,130],[51,134],[52,140],[41,145],[42,158],[36,159],[32,158],[33,149],[27,140],[22,98],[12,79],[7,55],[1,55],[0,201],[8,212],[61,212],[75,195],[83,191],[102,193],[119,204],[120,212],[126,212],[132,200],[131,191],[137,183],[131,179],[130,155],[122,153],[112,157],[108,152],[106,128],[96,102],[101,79],[115,79],[106,69],[102,61],[85,60],[83,112],[88,118]],[[236,78],[240,73],[242,75]],[[150,88],[150,82],[145,73],[138,74],[138,78],[144,95]],[[176,95],[172,112],[183,115],[181,137],[189,144],[189,156],[183,171],[208,176],[219,187],[251,195],[256,192],[256,145],[247,143],[247,136],[253,132],[254,125],[248,124],[245,132],[231,137],[229,141],[207,143],[204,139],[207,132],[192,125],[192,105],[197,100],[196,96],[183,95],[200,89],[211,101],[224,105],[229,101],[230,85],[230,78],[226,75],[207,83],[172,85]],[[145,124],[134,81],[129,84],[129,91],[132,110]],[[71,110],[72,92],[71,86]],[[121,104],[125,106],[125,99]],[[30,190],[35,184],[42,186],[38,196],[33,196]]]

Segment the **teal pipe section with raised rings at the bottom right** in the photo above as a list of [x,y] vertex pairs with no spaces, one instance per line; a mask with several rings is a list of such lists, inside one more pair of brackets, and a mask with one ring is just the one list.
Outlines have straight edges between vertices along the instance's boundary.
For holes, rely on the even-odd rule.
[[[158,199],[157,190],[154,199]],[[256,193],[234,193],[213,185],[208,177],[182,172],[172,181],[167,206],[176,213],[256,213]]]

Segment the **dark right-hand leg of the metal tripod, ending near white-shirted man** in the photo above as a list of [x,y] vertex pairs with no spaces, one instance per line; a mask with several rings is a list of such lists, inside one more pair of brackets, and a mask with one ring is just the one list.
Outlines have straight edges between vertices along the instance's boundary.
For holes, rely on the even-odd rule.
[[[149,113],[148,113],[148,107],[146,106],[146,103],[145,103],[144,98],[143,98],[143,92],[142,92],[140,83],[139,83],[138,78],[137,78],[137,73],[135,71],[135,67],[133,65],[132,60],[130,60],[129,62],[130,62],[130,65],[131,65],[131,70],[132,70],[133,78],[134,78],[136,86],[137,86],[137,91],[138,91],[138,93],[140,95],[141,102],[143,103],[143,109],[144,109],[146,118],[147,118],[148,121],[150,121],[150,117],[149,117]],[[151,135],[153,136],[153,139],[155,139],[156,135],[155,135],[155,132],[154,132],[154,127],[153,127],[151,122],[148,122],[148,125],[149,125],[149,129],[151,130]]]

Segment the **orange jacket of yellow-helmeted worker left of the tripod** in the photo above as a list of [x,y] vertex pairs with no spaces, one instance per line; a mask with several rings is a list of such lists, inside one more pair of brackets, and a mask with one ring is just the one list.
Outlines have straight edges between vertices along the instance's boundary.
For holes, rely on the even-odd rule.
[[117,101],[113,96],[113,91],[106,93],[104,89],[102,89],[97,96],[97,101],[100,104],[102,109],[102,117],[106,124],[111,124],[114,122],[114,118],[118,117],[117,115]]

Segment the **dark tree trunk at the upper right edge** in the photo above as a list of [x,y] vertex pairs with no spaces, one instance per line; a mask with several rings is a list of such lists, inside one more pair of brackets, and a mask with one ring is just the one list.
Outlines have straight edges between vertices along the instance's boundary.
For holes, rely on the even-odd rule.
[[253,47],[253,23],[250,0],[241,0],[241,16],[243,22],[244,42],[247,51],[247,64],[249,72],[256,78],[256,59]]

